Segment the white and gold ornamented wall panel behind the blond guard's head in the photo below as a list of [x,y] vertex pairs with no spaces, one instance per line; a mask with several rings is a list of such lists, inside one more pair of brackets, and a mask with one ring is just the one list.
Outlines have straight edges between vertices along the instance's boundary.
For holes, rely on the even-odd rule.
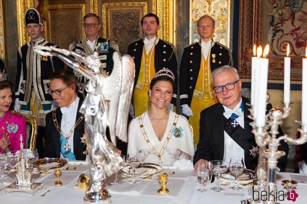
[[197,20],[203,15],[215,20],[213,40],[230,47],[230,0],[190,0],[190,44],[200,39]]

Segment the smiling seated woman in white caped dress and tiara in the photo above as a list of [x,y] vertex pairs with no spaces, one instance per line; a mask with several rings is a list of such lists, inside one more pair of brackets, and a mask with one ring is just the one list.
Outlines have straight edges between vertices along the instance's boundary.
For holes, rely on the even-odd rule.
[[174,74],[169,69],[156,73],[148,89],[150,109],[129,124],[127,153],[138,153],[144,162],[165,165],[179,159],[193,161],[194,145],[188,120],[167,109],[174,88],[177,88]]

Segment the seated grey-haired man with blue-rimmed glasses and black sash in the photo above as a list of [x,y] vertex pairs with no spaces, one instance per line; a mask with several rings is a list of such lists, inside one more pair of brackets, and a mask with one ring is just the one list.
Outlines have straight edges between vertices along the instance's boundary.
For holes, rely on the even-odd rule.
[[[218,103],[200,113],[200,140],[194,155],[194,169],[198,164],[212,160],[230,162],[231,157],[244,158],[244,166],[254,170],[258,164],[258,146],[251,133],[252,122],[246,103],[249,100],[241,96],[242,82],[236,68],[223,66],[211,73],[213,89]],[[267,110],[272,108],[267,105]],[[278,137],[283,135],[278,128]],[[288,154],[288,144],[280,142],[279,150]],[[287,162],[287,155],[278,159],[278,170]]]

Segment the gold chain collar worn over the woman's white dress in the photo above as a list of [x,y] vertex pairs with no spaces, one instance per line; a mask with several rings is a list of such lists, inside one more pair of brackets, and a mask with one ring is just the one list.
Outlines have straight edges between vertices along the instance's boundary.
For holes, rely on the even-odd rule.
[[161,147],[160,149],[160,152],[158,152],[156,150],[156,148],[153,147],[153,144],[149,141],[149,138],[147,136],[147,133],[145,132],[145,128],[144,128],[144,125],[143,125],[143,119],[142,119],[142,116],[139,116],[138,117],[138,124],[140,125],[140,128],[141,128],[141,133],[144,137],[144,140],[145,142],[147,143],[148,147],[153,151],[153,153],[159,157],[159,161],[160,163],[164,164],[164,162],[161,161],[161,157],[163,156],[164,154],[164,151],[166,149],[166,146],[167,144],[169,143],[169,139],[172,137],[172,134],[173,134],[173,127],[177,125],[177,122],[178,122],[178,119],[179,119],[179,115],[176,113],[175,114],[175,118],[174,118],[174,122],[173,122],[173,125],[172,127],[170,128],[169,130],[169,134],[167,135],[167,137],[165,138],[164,140],[164,143],[163,143],[163,146]]

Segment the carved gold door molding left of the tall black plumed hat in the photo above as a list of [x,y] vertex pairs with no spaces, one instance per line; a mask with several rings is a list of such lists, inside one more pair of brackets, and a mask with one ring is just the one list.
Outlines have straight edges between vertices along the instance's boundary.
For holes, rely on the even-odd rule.
[[27,32],[27,28],[23,23],[23,13],[29,7],[34,7],[35,0],[17,0],[17,26],[18,26],[18,44],[19,47],[30,41],[30,36]]

